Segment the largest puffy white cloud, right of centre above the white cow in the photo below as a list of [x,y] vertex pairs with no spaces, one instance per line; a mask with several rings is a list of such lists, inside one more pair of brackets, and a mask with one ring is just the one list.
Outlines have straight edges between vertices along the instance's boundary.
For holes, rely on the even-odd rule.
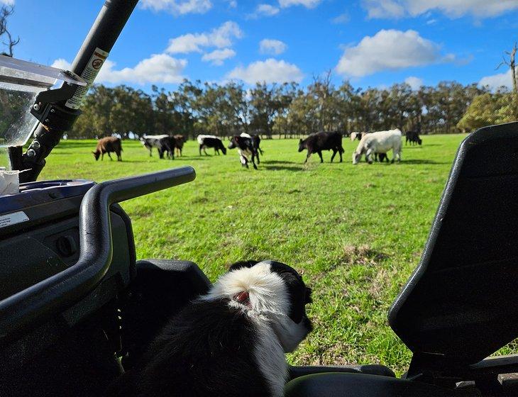
[[336,66],[336,71],[353,77],[363,77],[382,70],[404,69],[453,62],[454,55],[441,57],[440,46],[422,38],[415,30],[380,30],[365,36],[355,47],[348,47]]

